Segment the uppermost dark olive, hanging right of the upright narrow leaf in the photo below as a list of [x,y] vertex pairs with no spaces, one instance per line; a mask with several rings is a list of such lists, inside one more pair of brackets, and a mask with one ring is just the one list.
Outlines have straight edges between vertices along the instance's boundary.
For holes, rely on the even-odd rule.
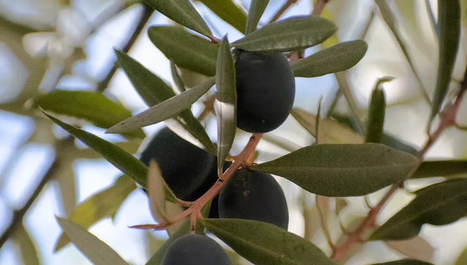
[[233,50],[237,127],[270,132],[284,123],[295,100],[295,76],[282,53]]

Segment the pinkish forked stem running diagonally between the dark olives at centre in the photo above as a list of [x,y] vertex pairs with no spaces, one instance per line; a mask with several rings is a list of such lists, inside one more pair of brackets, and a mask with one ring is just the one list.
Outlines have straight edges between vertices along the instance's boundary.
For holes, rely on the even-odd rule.
[[262,133],[253,133],[251,135],[250,140],[246,144],[245,148],[238,154],[238,156],[235,157],[235,160],[233,161],[232,165],[224,172],[222,175],[222,179],[219,178],[216,183],[208,190],[206,191],[201,197],[199,197],[197,200],[193,202],[185,202],[185,201],[179,201],[181,202],[182,205],[190,207],[183,212],[179,213],[173,218],[170,218],[170,221],[163,222],[157,225],[135,225],[135,226],[130,226],[130,228],[136,228],[136,229],[153,229],[153,230],[165,230],[172,225],[176,224],[177,222],[185,219],[186,217],[190,217],[190,233],[193,234],[195,233],[195,228],[196,228],[196,220],[201,218],[201,210],[203,209],[204,205],[206,205],[210,200],[212,200],[219,192],[220,190],[226,185],[227,181],[229,181],[230,177],[240,168],[243,168],[244,166],[249,165],[249,158],[251,153],[254,153],[254,150],[256,149],[256,146],[259,143],[259,140],[261,140],[261,137],[263,136]]

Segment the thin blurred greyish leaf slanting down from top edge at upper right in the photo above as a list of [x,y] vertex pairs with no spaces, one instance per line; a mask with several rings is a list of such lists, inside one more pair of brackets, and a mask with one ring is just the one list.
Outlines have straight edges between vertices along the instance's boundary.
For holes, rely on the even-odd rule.
[[416,69],[415,69],[415,64],[412,61],[412,58],[410,57],[410,54],[408,52],[408,49],[402,40],[402,34],[400,33],[399,30],[399,25],[397,24],[397,20],[395,19],[395,15],[392,13],[392,10],[389,8],[388,2],[385,0],[375,0],[375,3],[378,5],[378,8],[380,9],[381,15],[383,16],[383,19],[385,20],[386,24],[388,25],[389,29],[391,30],[392,34],[394,35],[394,38],[396,39],[397,43],[399,44],[399,47],[402,51],[402,53],[405,56],[405,59],[407,60],[410,69],[412,70],[415,78],[417,79],[419,85],[420,85],[420,92],[422,93],[423,97],[426,99],[428,103],[431,104],[430,97],[428,96],[428,93],[426,92],[426,89],[423,86],[423,83],[420,79],[420,76],[418,75]]

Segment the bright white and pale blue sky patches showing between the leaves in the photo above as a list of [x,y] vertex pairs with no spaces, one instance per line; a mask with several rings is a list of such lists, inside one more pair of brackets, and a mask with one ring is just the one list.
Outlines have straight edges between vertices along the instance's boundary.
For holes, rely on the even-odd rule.
[[[7,0],[0,0],[0,9],[6,2]],[[82,4],[79,4],[80,1],[75,2],[77,3],[77,6],[83,8],[83,13],[88,17],[92,18],[99,12],[98,9],[92,8],[88,3],[85,3],[85,1],[81,1]],[[99,0],[96,2],[103,3],[111,1]],[[364,11],[368,11],[370,6],[369,3],[371,1],[360,0],[358,2],[359,5],[356,5],[357,7],[353,6],[354,9],[352,9],[352,11],[356,13],[353,18],[355,19],[356,17],[360,17],[361,20],[364,20],[364,17],[368,15],[368,12]],[[248,6],[249,1],[245,0],[243,3],[245,6]],[[265,15],[263,16],[262,22],[267,21],[282,3],[282,0],[271,0],[268,8],[266,9]],[[8,4],[10,4],[10,2],[8,2]],[[28,4],[27,0],[20,0],[15,1],[13,5],[19,6],[19,10],[22,10],[23,13],[28,13],[29,9],[26,8]],[[199,7],[199,11],[203,15],[207,15],[209,19],[208,24],[213,28],[213,31],[218,38],[222,37],[225,33],[228,33],[229,40],[231,42],[241,37],[241,34],[238,31],[213,15],[207,8],[201,5],[199,5]],[[299,0],[298,3],[286,13],[286,15],[308,14],[310,10],[311,0]],[[42,11],[42,16],[38,14],[37,17],[48,17],[45,15],[47,12],[54,12],[54,10]],[[141,6],[134,5],[119,14],[117,17],[113,18],[112,21],[106,23],[106,25],[87,42],[85,49],[87,61],[77,64],[75,67],[75,74],[80,76],[87,75],[91,78],[100,77],[102,75],[102,71],[108,69],[109,60],[114,58],[112,47],[121,47],[121,44],[118,44],[119,40],[128,34],[127,31],[131,29],[132,23],[133,25],[136,23],[140,12]],[[30,13],[33,12],[31,11]],[[168,19],[156,13],[148,24],[153,25],[166,23],[168,23]],[[377,20],[375,24],[374,28],[369,32],[369,39],[374,41],[370,42],[369,40],[369,43],[371,43],[368,53],[369,58],[362,60],[363,66],[356,70],[355,77],[352,79],[353,82],[360,82],[359,84],[361,84],[361,87],[356,91],[357,102],[360,105],[366,104],[365,102],[367,102],[368,95],[370,94],[371,89],[373,88],[372,86],[377,78],[387,75],[396,75],[399,79],[401,78],[405,84],[413,82],[413,78],[410,79],[409,77],[406,77],[407,69],[404,70],[404,67],[400,67],[401,59],[394,58],[394,53],[391,53],[396,50],[396,48],[390,47],[389,44],[386,44],[393,44],[393,42],[391,42],[392,40],[390,40],[390,35],[381,36],[382,34],[377,34],[378,30],[381,32],[381,30],[385,29],[384,24],[380,20]],[[356,34],[355,32],[358,30],[359,24],[358,21],[353,21],[352,23],[340,24],[339,26],[341,28],[339,37],[342,41],[345,41],[353,39],[353,36]],[[67,27],[66,31],[71,32],[71,29],[74,28],[76,28],[76,24],[72,23]],[[167,83],[171,83],[172,79],[170,76],[168,60],[150,42],[146,35],[146,31],[143,32],[144,34],[140,36],[139,40],[132,48],[130,55],[145,67],[154,71],[156,75],[166,80]],[[380,50],[382,48],[386,49],[386,52],[381,53]],[[315,51],[315,48],[308,49],[307,55]],[[394,65],[392,65],[389,70],[384,67],[374,67],[374,64],[384,60],[390,61],[390,59],[392,59],[393,64],[398,63],[399,66],[394,67]],[[24,71],[24,69],[21,69],[21,66],[18,65],[19,64],[15,61],[15,58],[12,56],[8,47],[0,43],[0,69],[10,70],[6,73],[0,73],[0,80],[3,84],[6,84],[6,87],[9,90],[13,90],[15,86],[18,86],[19,81],[13,80],[15,75],[17,75],[15,73]],[[358,70],[360,72],[358,72]],[[92,88],[91,86],[91,83],[79,77],[64,78],[60,84],[60,88],[67,89],[76,89],[77,87],[80,89],[90,89]],[[329,106],[336,88],[336,83],[332,75],[313,79],[297,78],[295,106],[315,113],[319,97],[323,95],[324,106]],[[393,101],[396,100],[397,96],[400,94],[400,90],[397,90],[395,87],[390,87],[388,90],[388,97],[391,100],[393,99]],[[0,90],[0,96],[4,96],[6,94],[7,93],[5,91]],[[135,114],[146,109],[142,99],[132,88],[122,71],[117,72],[110,84],[110,88],[106,91],[106,94],[109,94],[111,98],[117,97],[128,108],[132,109]],[[195,106],[193,111],[195,114],[199,113],[199,105]],[[407,109],[405,109],[405,112],[401,111],[403,110],[395,108],[392,113],[396,114],[387,114],[389,117],[393,115],[394,120],[396,120],[396,122],[388,121],[388,123],[392,125],[397,123],[400,124],[400,119],[395,119],[395,117],[397,117],[397,115],[400,116],[400,113],[404,113],[406,120],[403,123],[405,125],[409,124],[407,126],[411,126],[410,130],[408,130],[407,127],[405,129],[397,127],[397,129],[392,130],[391,132],[398,136],[405,136],[404,138],[406,141],[415,145],[420,145],[423,142],[422,134],[420,133],[423,132],[414,130],[415,133],[413,134],[407,133],[415,126],[420,125],[420,122],[413,122],[417,120],[419,113],[416,113],[416,111],[413,113],[410,111],[407,112]],[[55,154],[53,148],[44,144],[19,146],[19,144],[27,139],[33,131],[34,121],[31,118],[0,110],[0,121],[0,231],[2,231],[11,220],[12,212],[10,209],[20,208],[24,204],[33,187],[37,185],[39,178],[53,162]],[[163,126],[163,123],[146,127],[144,130],[148,135],[150,135],[160,126]],[[390,128],[390,126],[388,126],[388,128]],[[103,134],[102,129],[92,126],[86,126],[84,129],[107,140],[122,140],[121,137],[105,135]],[[424,130],[424,127],[422,130]],[[211,124],[208,127],[208,131],[213,139],[215,139],[215,124]],[[63,131],[58,128],[55,128],[55,132],[63,135]],[[311,137],[308,136],[292,118],[289,118],[283,126],[274,132],[274,134],[287,139],[292,139],[300,146],[305,146],[311,143]],[[454,155],[454,151],[451,148],[452,140],[450,138],[449,140],[445,139],[442,143],[442,146],[438,146],[436,150],[433,151],[434,154],[437,157],[452,157]],[[83,146],[81,143],[77,144],[78,146]],[[76,186],[78,188],[78,202],[81,202],[95,192],[110,186],[120,174],[117,169],[104,160],[76,161],[74,164],[74,170],[76,173]],[[288,200],[293,201],[297,188],[294,185],[291,185],[288,181],[281,180],[281,184],[283,184],[284,189],[288,194]],[[57,254],[52,253],[56,240],[61,233],[61,229],[55,220],[55,215],[65,216],[65,212],[60,201],[58,184],[57,182],[52,181],[45,187],[25,216],[24,226],[35,242],[43,264],[90,264],[87,259],[71,244]],[[407,198],[404,197],[401,199],[401,203],[403,203],[403,201],[407,201]],[[289,231],[299,235],[302,234],[303,219],[301,218],[301,213],[296,205],[290,206],[290,214],[291,224],[289,226]],[[154,221],[149,212],[147,197],[143,192],[137,190],[124,202],[123,207],[117,213],[113,223],[110,219],[105,219],[93,225],[89,231],[117,251],[126,261],[140,265],[145,264],[150,258],[150,253],[145,247],[146,237],[149,233],[140,230],[128,229],[127,226],[152,222]],[[464,245],[467,242],[464,240],[465,236],[462,235],[467,234],[467,229],[464,228],[461,230],[461,226],[464,228],[465,222],[458,222],[457,224],[448,226],[442,230],[427,227],[422,231],[422,234],[424,234],[427,239],[431,239],[432,241],[430,242],[435,246],[444,246],[443,251],[440,251],[438,256],[436,256],[436,261],[440,261],[440,263],[436,264],[450,264],[450,261],[452,261],[457,253],[464,248]],[[461,234],[460,231],[464,234]],[[154,235],[161,238],[164,237],[163,232],[154,233]],[[444,237],[449,238],[449,240],[443,240],[442,242],[439,241],[437,237],[440,235],[444,235]],[[381,252],[385,250],[386,249],[383,244],[374,243],[371,248],[366,249],[362,255],[358,256],[359,259],[363,256],[370,258],[367,258],[366,260],[353,261],[349,264],[378,261],[378,256],[380,255],[377,254],[381,254]],[[0,250],[0,264],[22,264],[20,255],[18,254],[19,249],[16,245],[13,244],[11,240],[8,241]],[[389,254],[387,253],[386,257],[389,257],[388,259],[396,259],[398,256],[394,252]]]

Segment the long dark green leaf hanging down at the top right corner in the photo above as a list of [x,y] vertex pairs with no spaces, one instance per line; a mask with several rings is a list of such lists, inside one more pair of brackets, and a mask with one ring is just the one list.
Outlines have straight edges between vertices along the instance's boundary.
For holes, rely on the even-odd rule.
[[453,74],[461,38],[461,4],[459,0],[438,1],[439,62],[431,119],[440,111]]

